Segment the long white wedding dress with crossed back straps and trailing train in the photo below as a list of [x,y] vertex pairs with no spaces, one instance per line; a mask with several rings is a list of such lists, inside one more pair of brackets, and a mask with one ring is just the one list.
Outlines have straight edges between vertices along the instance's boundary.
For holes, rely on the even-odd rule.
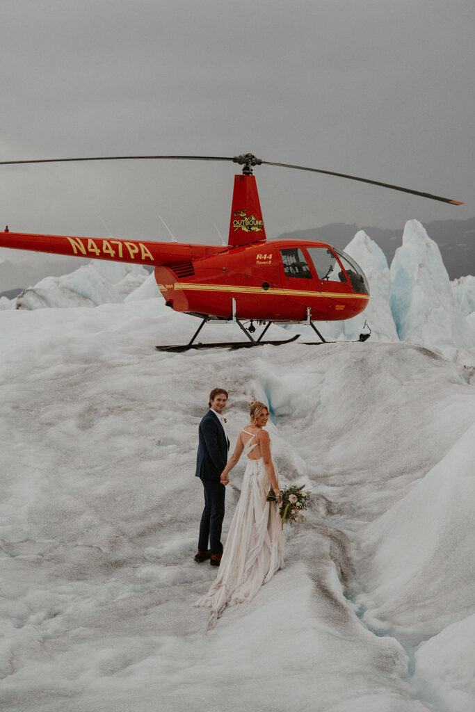
[[[224,546],[216,580],[195,606],[211,610],[208,629],[214,627],[226,606],[250,601],[260,587],[283,567],[283,532],[275,502],[266,501],[271,483],[263,459],[252,460],[249,453],[259,444],[256,436],[244,446],[246,471],[234,517]],[[275,465],[274,465],[275,468]],[[276,477],[278,478],[277,470]]]

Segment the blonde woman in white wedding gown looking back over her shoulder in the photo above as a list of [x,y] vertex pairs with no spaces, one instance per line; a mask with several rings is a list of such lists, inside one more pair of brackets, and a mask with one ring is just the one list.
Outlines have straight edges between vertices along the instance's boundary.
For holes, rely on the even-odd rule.
[[251,403],[251,423],[241,433],[234,453],[221,473],[221,482],[229,484],[229,472],[242,452],[247,458],[246,471],[234,517],[229,528],[219,572],[206,595],[195,606],[211,610],[208,628],[214,627],[226,605],[250,601],[259,588],[283,567],[283,533],[276,502],[266,501],[273,488],[281,498],[278,473],[271,456],[271,440],[266,426],[269,413],[259,401]]

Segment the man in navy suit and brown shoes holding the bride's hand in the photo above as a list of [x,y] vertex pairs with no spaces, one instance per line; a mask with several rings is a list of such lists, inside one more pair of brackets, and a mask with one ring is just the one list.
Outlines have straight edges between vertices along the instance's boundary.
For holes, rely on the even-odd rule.
[[202,418],[198,431],[196,476],[201,478],[204,488],[204,510],[199,525],[198,553],[194,560],[201,563],[210,559],[212,566],[219,566],[223,553],[221,527],[226,487],[219,478],[226,467],[229,450],[226,419],[222,416],[227,401],[228,393],[224,388],[212,390],[209,394],[209,411]]

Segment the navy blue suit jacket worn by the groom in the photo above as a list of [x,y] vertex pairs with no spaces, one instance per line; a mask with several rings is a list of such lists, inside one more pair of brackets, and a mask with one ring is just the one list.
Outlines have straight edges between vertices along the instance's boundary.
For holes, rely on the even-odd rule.
[[197,477],[219,482],[228,461],[229,440],[211,409],[202,417],[198,429]]

